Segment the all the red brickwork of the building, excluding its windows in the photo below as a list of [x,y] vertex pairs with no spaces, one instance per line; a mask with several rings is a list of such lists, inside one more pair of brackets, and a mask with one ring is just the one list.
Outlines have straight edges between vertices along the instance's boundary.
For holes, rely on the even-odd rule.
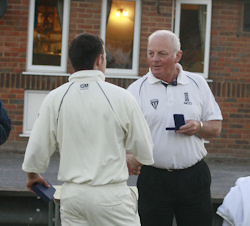
[[[25,89],[51,90],[67,81],[63,76],[22,75],[26,67],[29,0],[9,0],[0,18],[0,98],[12,119],[12,132],[0,149],[23,150]],[[148,71],[147,38],[155,30],[171,29],[172,0],[142,0],[139,75]],[[207,144],[210,156],[250,158],[250,32],[242,31],[243,2],[213,0],[209,83],[223,113],[219,138]],[[72,0],[69,41],[81,32],[99,35],[101,0]],[[68,73],[73,69],[68,61]],[[126,88],[133,79],[107,79]]]

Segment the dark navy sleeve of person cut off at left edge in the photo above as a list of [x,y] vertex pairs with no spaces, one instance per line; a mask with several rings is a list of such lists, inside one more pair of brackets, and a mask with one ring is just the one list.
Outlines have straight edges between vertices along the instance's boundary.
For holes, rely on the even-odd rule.
[[11,130],[11,121],[7,112],[0,101],[0,145],[3,144],[9,137]]

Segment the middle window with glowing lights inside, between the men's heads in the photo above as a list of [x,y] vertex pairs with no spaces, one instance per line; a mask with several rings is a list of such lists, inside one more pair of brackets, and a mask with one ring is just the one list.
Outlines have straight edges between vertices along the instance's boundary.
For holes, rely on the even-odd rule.
[[101,37],[106,75],[138,76],[141,0],[103,0]]

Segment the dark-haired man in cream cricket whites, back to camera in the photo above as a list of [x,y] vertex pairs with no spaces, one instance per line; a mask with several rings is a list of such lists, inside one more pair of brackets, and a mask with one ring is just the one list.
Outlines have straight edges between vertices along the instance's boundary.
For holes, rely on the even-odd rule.
[[[152,139],[133,96],[104,81],[103,41],[74,38],[69,82],[45,98],[27,145],[22,169],[27,187],[42,183],[51,155],[60,153],[62,225],[140,225],[136,199],[127,186],[126,151],[138,164],[152,164]],[[133,164],[133,162],[132,162]]]

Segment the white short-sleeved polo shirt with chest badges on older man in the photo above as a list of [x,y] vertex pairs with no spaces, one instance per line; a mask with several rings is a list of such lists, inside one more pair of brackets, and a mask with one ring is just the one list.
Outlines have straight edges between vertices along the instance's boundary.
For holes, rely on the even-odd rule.
[[221,111],[203,77],[183,71],[180,64],[177,86],[162,85],[151,71],[132,83],[134,95],[149,125],[154,142],[154,166],[162,169],[183,169],[201,160],[207,151],[198,136],[176,134],[166,127],[175,127],[173,114],[185,120],[222,120]]

